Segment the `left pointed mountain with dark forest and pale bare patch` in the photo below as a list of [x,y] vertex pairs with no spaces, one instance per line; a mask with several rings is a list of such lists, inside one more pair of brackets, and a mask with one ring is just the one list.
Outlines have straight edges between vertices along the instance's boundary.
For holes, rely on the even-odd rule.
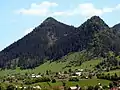
[[65,25],[48,17],[33,32],[0,52],[0,67],[9,68],[18,65],[32,68],[39,65],[46,57],[47,50],[56,41],[72,33],[74,29],[73,26]]

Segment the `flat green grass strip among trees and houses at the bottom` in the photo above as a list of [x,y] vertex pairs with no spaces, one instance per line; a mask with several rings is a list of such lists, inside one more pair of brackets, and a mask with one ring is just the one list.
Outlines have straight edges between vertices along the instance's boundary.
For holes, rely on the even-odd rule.
[[[97,85],[98,83],[101,83],[103,86],[106,85],[108,86],[109,83],[111,81],[109,80],[103,80],[103,79],[84,79],[84,80],[80,80],[79,82],[70,82],[70,81],[67,81],[65,82],[66,83],[66,86],[70,87],[70,86],[75,86],[75,85],[79,85],[81,87],[84,87],[84,86],[95,86]],[[50,86],[62,86],[62,82],[56,82],[56,83],[47,83],[47,82],[43,82],[43,83],[37,83],[35,85],[40,85],[41,87],[49,87]]]

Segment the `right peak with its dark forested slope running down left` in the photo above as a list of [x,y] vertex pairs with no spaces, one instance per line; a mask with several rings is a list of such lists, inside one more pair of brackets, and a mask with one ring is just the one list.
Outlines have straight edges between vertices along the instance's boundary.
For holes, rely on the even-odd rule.
[[108,30],[109,27],[98,16],[93,16],[80,27],[76,28],[73,33],[56,41],[54,47],[51,47],[47,53],[50,59],[59,59],[69,52],[77,52],[87,49],[89,43],[92,41],[94,33]]

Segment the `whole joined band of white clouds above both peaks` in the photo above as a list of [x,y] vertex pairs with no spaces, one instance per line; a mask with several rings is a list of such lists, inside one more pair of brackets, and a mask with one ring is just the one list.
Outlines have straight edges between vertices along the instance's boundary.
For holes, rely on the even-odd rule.
[[115,7],[103,7],[103,8],[97,8],[92,3],[82,3],[76,5],[75,8],[70,10],[61,10],[61,11],[54,11],[54,9],[51,9],[52,7],[57,7],[58,4],[55,2],[48,2],[44,1],[40,4],[32,3],[30,8],[28,9],[20,9],[17,11],[19,14],[25,14],[25,15],[39,15],[39,16],[75,16],[80,15],[83,17],[91,17],[94,15],[101,16],[105,13],[111,13],[113,11],[120,9],[120,4],[116,5]]

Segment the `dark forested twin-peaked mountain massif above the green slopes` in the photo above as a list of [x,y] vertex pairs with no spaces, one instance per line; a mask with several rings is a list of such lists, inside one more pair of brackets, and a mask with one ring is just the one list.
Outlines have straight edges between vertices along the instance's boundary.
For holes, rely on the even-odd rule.
[[54,61],[83,50],[90,51],[94,57],[109,51],[118,54],[119,41],[119,36],[98,16],[78,28],[48,17],[31,33],[0,52],[0,68],[34,68],[45,60]]

